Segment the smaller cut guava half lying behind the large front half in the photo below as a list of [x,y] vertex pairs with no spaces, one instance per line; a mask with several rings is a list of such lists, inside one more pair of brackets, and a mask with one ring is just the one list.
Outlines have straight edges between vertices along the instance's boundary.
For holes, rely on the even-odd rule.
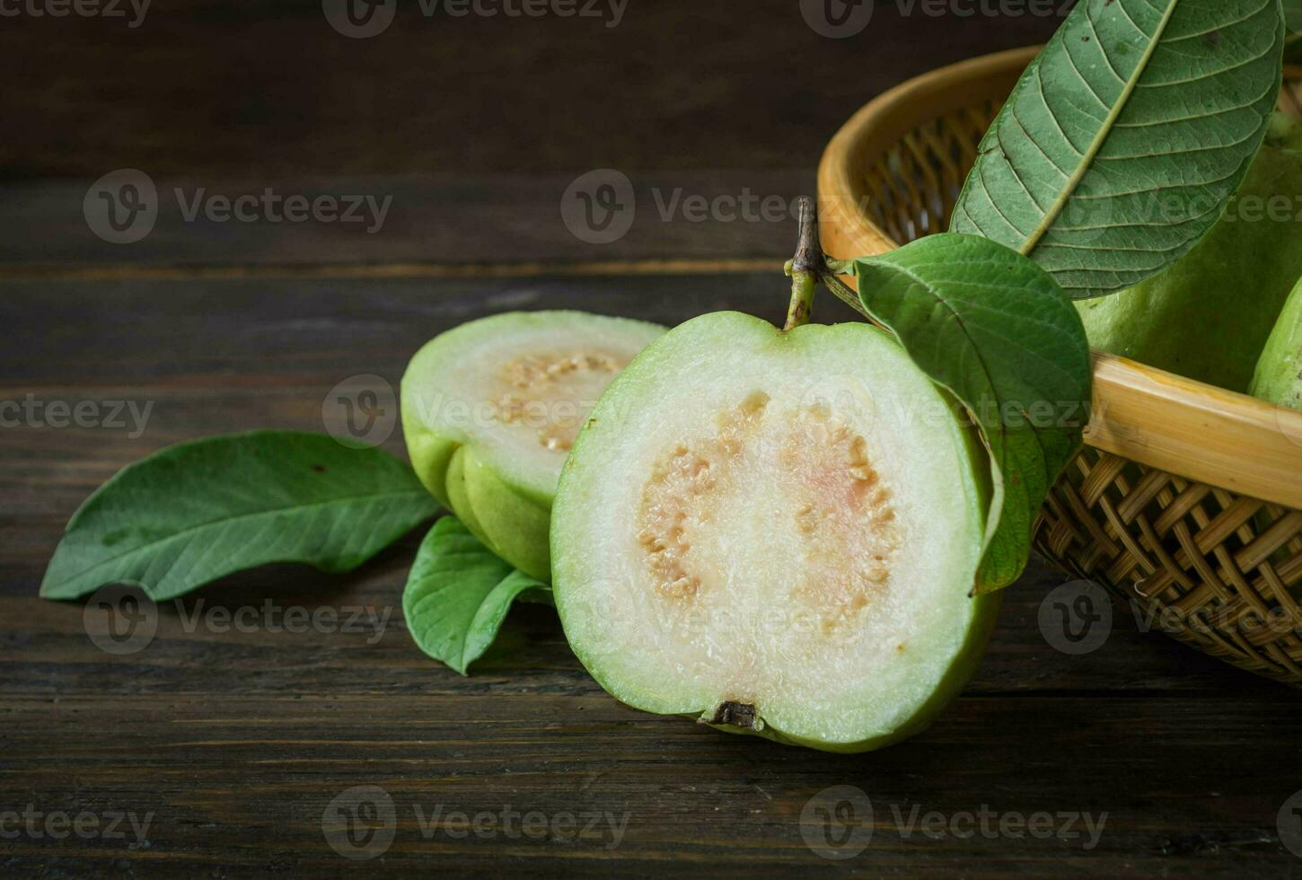
[[556,480],[611,379],[664,328],[578,311],[508,312],[430,340],[402,376],[421,482],[493,553],[548,579]]

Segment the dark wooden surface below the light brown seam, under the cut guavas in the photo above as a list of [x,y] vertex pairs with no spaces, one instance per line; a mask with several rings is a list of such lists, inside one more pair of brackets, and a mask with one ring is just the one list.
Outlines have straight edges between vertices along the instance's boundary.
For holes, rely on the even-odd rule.
[[[1038,614],[1064,578],[1039,562],[1008,591],[990,655],[957,704],[917,739],[859,756],[621,707],[544,608],[514,611],[500,647],[470,677],[452,673],[401,624],[418,534],[355,575],[270,566],[212,584],[164,605],[155,639],[129,656],[87,639],[81,604],[36,598],[62,523],[116,469],[219,431],[319,430],[335,383],[362,372],[396,383],[409,353],[456,323],[556,306],[665,323],[734,307],[779,320],[785,296],[779,272],[0,282],[0,322],[35,341],[0,350],[0,400],[154,402],[135,439],[112,428],[0,431],[0,810],[154,814],[141,849],[126,849],[130,837],[23,833],[0,844],[0,866],[167,877],[1295,872],[1302,862],[1276,827],[1302,788],[1294,694],[1139,631],[1122,607],[1100,650],[1060,653]],[[849,316],[829,297],[815,314]],[[401,453],[397,433],[387,445]],[[223,633],[186,622],[268,598],[387,624]],[[350,862],[324,837],[327,806],[355,785],[379,785],[395,803],[383,860]],[[845,862],[819,858],[802,836],[802,810],[836,785],[861,789],[874,807],[871,844]],[[628,814],[628,824],[615,847],[600,829],[479,837],[456,816],[427,836],[421,818],[439,804],[467,816]],[[1082,838],[907,832],[914,807],[954,816],[983,804],[1108,818],[1088,850]]]

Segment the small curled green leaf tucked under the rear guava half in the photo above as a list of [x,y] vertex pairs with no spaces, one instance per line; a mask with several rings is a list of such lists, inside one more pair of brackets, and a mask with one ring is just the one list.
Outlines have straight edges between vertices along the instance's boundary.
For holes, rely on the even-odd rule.
[[444,517],[421,542],[402,614],[417,647],[462,676],[501,627],[510,603],[551,603],[552,588],[497,558],[456,517]]

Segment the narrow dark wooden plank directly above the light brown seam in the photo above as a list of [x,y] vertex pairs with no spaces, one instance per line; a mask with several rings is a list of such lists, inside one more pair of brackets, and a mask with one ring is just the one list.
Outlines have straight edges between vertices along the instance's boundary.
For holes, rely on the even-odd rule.
[[[794,203],[814,193],[807,168],[618,172],[628,195],[583,213],[618,180],[591,169],[544,174],[203,178],[148,174],[142,195],[154,225],[141,220],[132,241],[105,241],[83,206],[95,177],[0,186],[10,234],[0,238],[0,273],[57,276],[85,267],[318,267],[414,263],[516,267],[598,260],[784,260],[794,250]],[[143,184],[138,184],[146,191]],[[109,194],[121,198],[121,184]],[[303,199],[286,213],[286,199]],[[223,202],[223,199],[225,202]],[[234,202],[245,199],[236,213]],[[335,199],[335,208],[329,202]],[[562,203],[575,213],[562,216]],[[318,206],[311,208],[310,206]],[[604,202],[602,204],[605,204]],[[94,211],[103,207],[92,199]],[[305,207],[306,206],[306,207]],[[129,217],[117,208],[120,219]],[[243,219],[240,219],[242,216]],[[290,217],[294,220],[292,221]],[[591,224],[590,224],[591,217]],[[609,219],[611,241],[594,234]],[[99,223],[99,220],[96,220]],[[622,224],[618,225],[618,224]],[[98,229],[104,229],[98,225]],[[492,230],[492,232],[488,232]],[[139,237],[134,237],[139,236]]]

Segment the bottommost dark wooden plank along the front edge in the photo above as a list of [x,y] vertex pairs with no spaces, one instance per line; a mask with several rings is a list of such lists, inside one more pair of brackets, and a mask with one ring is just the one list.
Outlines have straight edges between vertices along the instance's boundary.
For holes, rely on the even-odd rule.
[[[203,663],[221,669],[223,653],[215,650]],[[328,680],[342,665],[326,655],[298,676]],[[807,846],[802,811],[819,791],[854,786],[872,804],[874,831],[863,851],[837,867],[872,876],[1295,870],[1275,832],[1275,812],[1297,785],[1295,773],[1277,771],[1275,732],[1294,725],[1297,713],[1268,698],[970,696],[926,737],[848,758],[639,715],[591,685],[559,682],[539,698],[470,680],[464,689],[475,694],[456,696],[440,686],[450,674],[408,668],[401,686],[389,667],[372,674],[370,690],[329,695],[290,689],[271,696],[9,698],[4,780],[23,795],[20,803],[74,815],[132,811],[141,823],[152,814],[152,823],[147,845],[134,853],[126,849],[135,840],[129,829],[117,841],[25,836],[7,842],[5,866],[107,876],[130,857],[134,873],[169,876],[241,876],[267,866],[293,876],[357,867],[644,876],[727,864],[812,872],[832,864]],[[133,673],[142,674],[138,664],[96,678]],[[1137,728],[1154,747],[1120,750]],[[1213,739],[1233,746],[1212,762]],[[332,798],[359,785],[380,786],[397,820],[383,862],[370,866],[350,864],[323,833]],[[911,827],[914,808],[939,812],[944,831],[932,837]],[[497,819],[508,810],[516,814],[514,838]],[[1060,814],[1090,814],[1101,833],[1095,846],[1085,834],[997,834],[995,819],[988,834],[963,819],[982,810],[1013,820],[1043,811],[1064,831]],[[534,811],[547,820],[570,814],[602,823],[578,840],[573,827],[523,836],[521,816]],[[482,833],[457,837],[477,814],[486,816]],[[431,815],[441,821],[423,829]],[[607,818],[622,825],[622,836]],[[954,818],[957,829],[948,827]],[[1082,823],[1070,831],[1083,832]],[[810,825],[806,816],[803,828],[816,833]]]

